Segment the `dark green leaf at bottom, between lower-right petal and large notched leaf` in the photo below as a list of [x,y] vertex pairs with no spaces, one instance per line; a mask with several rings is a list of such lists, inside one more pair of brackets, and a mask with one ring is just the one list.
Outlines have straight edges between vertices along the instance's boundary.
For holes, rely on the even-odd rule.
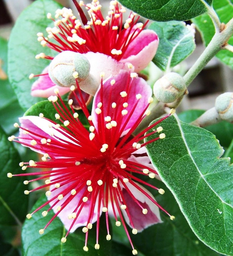
[[[132,236],[138,251],[146,256],[218,256],[217,252],[203,244],[193,233],[187,220],[181,213],[174,196],[157,179],[149,181],[154,186],[165,190],[164,195],[151,191],[156,201],[169,213],[175,215],[172,221],[164,212],[160,212],[163,223],[153,225]],[[157,194],[157,195],[156,195]]]

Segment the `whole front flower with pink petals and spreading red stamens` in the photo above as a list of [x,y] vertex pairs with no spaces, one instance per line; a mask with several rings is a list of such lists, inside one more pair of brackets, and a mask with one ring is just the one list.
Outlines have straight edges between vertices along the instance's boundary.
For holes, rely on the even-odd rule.
[[[77,87],[81,92],[78,82]],[[74,88],[72,86],[71,91]],[[45,203],[48,209],[42,215],[46,216],[48,211],[53,210],[55,216],[61,219],[68,230],[65,237],[62,237],[62,242],[66,241],[69,232],[83,227],[82,230],[86,233],[83,249],[88,251],[87,234],[92,232],[92,224],[97,222],[95,248],[98,249],[99,217],[101,214],[106,216],[106,239],[110,240],[108,214],[112,212],[116,225],[124,226],[132,253],[136,255],[137,250],[131,242],[126,223],[132,228],[132,233],[137,234],[138,231],[161,222],[159,209],[174,219],[144,186],[154,188],[161,194],[164,190],[135,176],[140,174],[155,178],[158,175],[151,165],[145,145],[165,138],[165,134],[160,133],[162,128],[158,124],[170,114],[138,135],[133,135],[138,124],[150,113],[148,106],[153,98],[149,85],[137,77],[136,73],[125,70],[121,70],[115,77],[101,81],[94,97],[91,115],[82,97],[81,100],[76,98],[88,120],[89,131],[78,119],[72,101],[69,101],[71,113],[65,107],[57,89],[55,93],[57,96],[51,96],[49,100],[56,108],[55,118],[63,123],[62,126],[44,118],[42,113],[39,117],[24,116],[19,119],[21,126],[18,140],[14,136],[9,137],[9,140],[43,154],[42,161],[20,163],[23,170],[46,170],[18,175],[8,173],[8,177],[42,175],[37,179],[46,178],[44,185],[31,191],[26,190],[25,194],[48,187],[48,201]],[[141,142],[152,134],[158,136],[148,142]],[[32,181],[33,179],[25,181],[25,184]],[[27,217],[31,218],[41,208]],[[51,221],[39,231],[40,234],[44,233],[50,223]]]

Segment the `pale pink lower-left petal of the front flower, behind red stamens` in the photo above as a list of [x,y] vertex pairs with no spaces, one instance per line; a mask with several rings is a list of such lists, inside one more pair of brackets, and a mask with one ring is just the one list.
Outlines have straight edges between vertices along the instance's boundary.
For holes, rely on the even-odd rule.
[[[58,176],[56,176],[57,178]],[[50,180],[52,180],[55,177],[51,177]],[[54,196],[58,196],[60,194],[63,193],[63,191],[65,189],[68,189],[68,187],[72,186],[72,183],[68,183],[65,184],[63,186],[60,186],[59,188],[56,188],[54,191],[52,191],[51,195],[48,196],[48,200],[52,199]],[[49,190],[54,189],[55,186],[52,185],[50,186]],[[72,189],[69,189],[70,191]],[[65,228],[68,230],[73,222],[74,219],[69,220],[68,219],[68,214],[71,214],[75,211],[75,208],[77,207],[79,201],[82,201],[82,197],[83,197],[83,193],[86,191],[86,188],[82,189],[80,192],[76,193],[74,196],[72,196],[70,193],[68,193],[66,196],[63,197],[62,200],[58,201],[57,199],[53,200],[52,202],[50,202],[50,206],[52,206],[56,201],[58,201],[58,203],[55,204],[55,206],[52,208],[54,213],[57,213],[57,207],[62,205],[63,203],[67,202],[68,197],[72,197],[72,200],[64,207],[62,208],[61,212],[58,214],[58,217],[60,218],[60,220],[62,221],[63,225],[65,226]],[[97,200],[98,202],[98,197]],[[86,226],[87,220],[88,220],[88,212],[89,212],[89,207],[91,204],[91,200],[88,200],[87,202],[85,202],[84,206],[82,207],[82,210],[80,212],[80,214],[78,215],[78,218],[75,220],[75,224],[72,226],[70,232],[74,232],[78,227],[83,227]],[[79,208],[78,208],[79,209]],[[98,207],[97,204],[95,204],[95,209],[94,209],[94,214],[93,214],[93,218],[92,218],[92,224],[95,223],[97,221],[97,217],[98,217]],[[100,213],[101,214],[101,213]]]

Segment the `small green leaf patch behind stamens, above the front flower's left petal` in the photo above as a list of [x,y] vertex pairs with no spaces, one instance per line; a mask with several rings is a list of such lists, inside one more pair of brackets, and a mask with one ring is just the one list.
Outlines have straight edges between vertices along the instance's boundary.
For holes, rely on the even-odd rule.
[[[66,107],[68,108],[68,110],[70,110],[71,112],[71,108],[68,105],[67,101],[64,101]],[[89,129],[89,123],[87,118],[85,117],[85,114],[83,113],[82,110],[78,110],[76,111],[78,113],[78,119],[82,122],[82,124],[84,125],[84,127]],[[48,118],[52,121],[56,121],[59,124],[62,124],[60,121],[55,119],[55,114],[57,113],[56,109],[53,107],[52,102],[50,101],[40,101],[36,104],[34,104],[31,108],[29,108],[26,112],[25,112],[25,116],[38,116],[40,113],[44,114],[45,118]]]

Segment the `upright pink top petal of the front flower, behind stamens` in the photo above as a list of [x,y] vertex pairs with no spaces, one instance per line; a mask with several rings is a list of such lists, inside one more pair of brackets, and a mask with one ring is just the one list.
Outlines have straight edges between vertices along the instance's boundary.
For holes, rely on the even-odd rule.
[[[101,93],[100,93],[100,87],[98,88],[94,101],[92,106],[92,116],[93,116],[93,123],[95,124],[95,127],[97,128],[97,114],[95,113],[95,108],[97,108],[97,104],[99,102],[102,102],[102,111],[104,112],[104,117],[108,116],[108,103],[110,102],[110,105],[112,102],[116,102],[116,104],[122,104],[125,98],[122,98],[120,93],[122,91],[125,91],[125,88],[127,86],[129,74],[125,70],[121,70],[120,73],[116,76],[109,77],[103,82],[103,99],[101,99]],[[115,79],[115,84],[111,85],[111,80]],[[111,87],[112,87],[112,93],[111,93]],[[141,99],[138,101],[136,99],[136,94],[141,94]],[[124,128],[124,131],[127,131],[132,127],[132,125],[135,124],[136,119],[138,119],[138,116],[142,113],[142,110],[146,108],[148,104],[148,98],[151,97],[152,90],[151,87],[146,83],[146,81],[140,77],[133,78],[132,80],[132,87],[130,90],[130,93],[128,94],[128,107],[126,108],[128,110],[128,114],[133,109],[135,103],[138,101],[138,105],[133,111],[133,114],[128,121],[126,127]],[[122,103],[119,103],[119,101],[122,101]],[[112,110],[110,110],[112,111]],[[123,117],[123,120],[121,122],[121,127],[124,125],[127,115],[126,114]],[[116,122],[118,120],[115,120]]]

